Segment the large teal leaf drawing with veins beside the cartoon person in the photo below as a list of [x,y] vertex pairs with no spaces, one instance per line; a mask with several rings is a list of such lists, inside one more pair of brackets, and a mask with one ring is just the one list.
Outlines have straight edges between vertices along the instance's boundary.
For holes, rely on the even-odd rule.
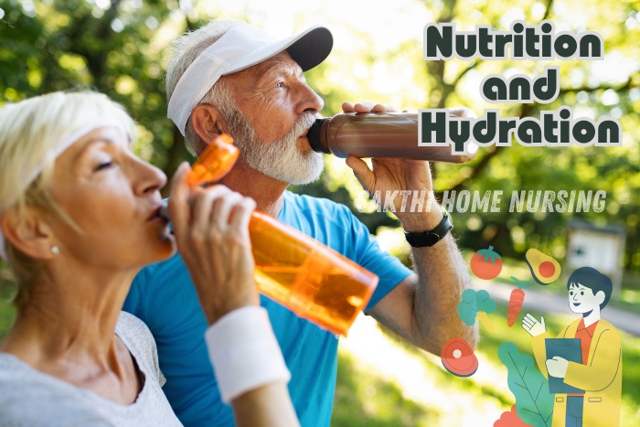
[[549,427],[553,414],[553,394],[549,382],[536,369],[533,358],[522,354],[513,343],[503,343],[497,356],[508,371],[509,390],[516,397],[517,415],[533,427]]

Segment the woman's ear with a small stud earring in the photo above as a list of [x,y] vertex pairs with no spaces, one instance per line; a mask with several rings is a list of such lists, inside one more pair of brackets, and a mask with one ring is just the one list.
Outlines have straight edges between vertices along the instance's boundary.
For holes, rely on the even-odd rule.
[[0,217],[0,227],[5,240],[31,258],[50,260],[55,258],[51,247],[56,243],[48,223],[33,208],[18,213],[11,208]]

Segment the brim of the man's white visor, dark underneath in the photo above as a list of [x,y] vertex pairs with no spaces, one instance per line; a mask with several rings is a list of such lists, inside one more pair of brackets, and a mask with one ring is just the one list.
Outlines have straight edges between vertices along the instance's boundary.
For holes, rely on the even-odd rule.
[[230,74],[242,69],[248,69],[265,59],[270,59],[277,54],[287,51],[291,58],[300,65],[303,71],[313,69],[331,53],[334,46],[334,38],[325,27],[311,27],[291,37],[277,40],[261,48],[253,50],[232,64],[229,64],[222,75]]

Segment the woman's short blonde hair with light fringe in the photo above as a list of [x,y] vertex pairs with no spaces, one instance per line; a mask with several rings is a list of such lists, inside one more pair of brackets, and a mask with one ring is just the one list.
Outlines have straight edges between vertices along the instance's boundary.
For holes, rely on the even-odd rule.
[[[0,216],[27,207],[52,212],[77,227],[51,196],[56,158],[91,130],[116,126],[135,139],[135,125],[123,107],[101,93],[54,92],[0,108]],[[0,239],[5,240],[0,233]],[[39,273],[38,260],[5,240],[22,306]]]

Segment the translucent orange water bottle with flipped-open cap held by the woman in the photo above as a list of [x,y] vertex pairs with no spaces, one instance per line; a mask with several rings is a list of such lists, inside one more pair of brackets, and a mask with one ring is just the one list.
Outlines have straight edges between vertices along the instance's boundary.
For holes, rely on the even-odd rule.
[[[233,139],[220,135],[199,156],[187,182],[197,186],[218,181],[238,155]],[[347,336],[378,276],[264,213],[251,214],[249,233],[260,292],[315,325]]]

